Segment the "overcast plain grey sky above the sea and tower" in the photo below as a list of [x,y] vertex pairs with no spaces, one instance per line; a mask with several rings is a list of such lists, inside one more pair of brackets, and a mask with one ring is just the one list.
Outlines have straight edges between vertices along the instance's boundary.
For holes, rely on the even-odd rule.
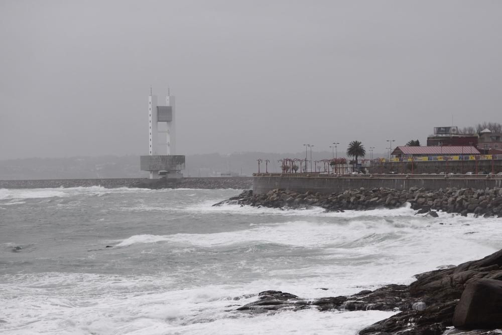
[[0,159],[147,154],[148,94],[179,154],[385,152],[502,122],[500,1],[0,0]]

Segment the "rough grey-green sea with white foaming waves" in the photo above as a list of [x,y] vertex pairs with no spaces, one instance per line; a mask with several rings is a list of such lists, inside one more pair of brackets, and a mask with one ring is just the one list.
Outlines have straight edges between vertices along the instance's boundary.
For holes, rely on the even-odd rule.
[[356,334],[393,312],[245,313],[350,295],[502,248],[496,218],[212,204],[239,190],[0,189],[0,333]]

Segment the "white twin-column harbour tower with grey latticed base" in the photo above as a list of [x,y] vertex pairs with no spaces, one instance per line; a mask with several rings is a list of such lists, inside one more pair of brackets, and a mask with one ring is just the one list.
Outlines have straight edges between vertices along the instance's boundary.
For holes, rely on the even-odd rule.
[[150,179],[181,178],[185,156],[176,155],[175,97],[166,96],[166,104],[158,105],[157,96],[148,97],[148,156],[141,156],[141,170],[150,172]]

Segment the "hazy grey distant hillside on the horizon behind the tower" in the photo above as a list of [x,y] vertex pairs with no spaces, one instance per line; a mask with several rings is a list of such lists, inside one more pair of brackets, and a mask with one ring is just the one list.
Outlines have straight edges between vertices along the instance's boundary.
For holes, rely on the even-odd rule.
[[[331,158],[332,153],[312,152],[312,160]],[[338,157],[341,157],[338,152]],[[376,157],[376,155],[375,155]],[[283,158],[305,158],[303,153],[245,152],[233,154],[200,154],[187,156],[185,176],[216,177],[220,173],[250,176],[258,172],[257,159],[262,159],[260,170],[265,171],[265,160],[269,160],[269,172],[280,172]],[[310,153],[308,155],[310,160]],[[310,163],[309,163],[310,164]],[[140,158],[128,156],[26,158],[0,160],[0,180],[11,179],[86,179],[86,178],[146,178],[147,172],[140,171]]]

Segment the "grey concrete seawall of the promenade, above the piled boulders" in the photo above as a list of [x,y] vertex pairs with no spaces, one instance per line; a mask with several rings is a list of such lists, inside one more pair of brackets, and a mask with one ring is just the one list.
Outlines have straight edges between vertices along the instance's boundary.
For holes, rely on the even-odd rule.
[[330,194],[361,188],[391,188],[407,190],[411,187],[438,190],[446,188],[500,188],[502,176],[489,175],[333,175],[309,173],[255,173],[254,194],[267,193],[273,189],[288,189],[296,192],[320,192]]

